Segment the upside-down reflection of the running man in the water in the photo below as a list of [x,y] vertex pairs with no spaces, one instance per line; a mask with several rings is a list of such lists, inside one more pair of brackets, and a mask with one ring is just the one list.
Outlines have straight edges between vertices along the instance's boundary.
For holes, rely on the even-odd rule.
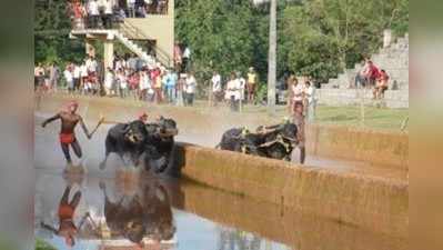
[[59,204],[59,211],[58,211],[58,216],[59,216],[59,229],[53,228],[52,226],[46,224],[43,222],[41,222],[41,227],[51,231],[52,233],[54,233],[56,236],[60,236],[64,238],[64,242],[69,246],[69,247],[73,247],[75,244],[75,236],[78,234],[78,231],[81,229],[81,227],[83,226],[85,219],[88,217],[90,217],[89,212],[87,212],[80,223],[79,227],[75,227],[74,221],[73,221],[73,217],[75,213],[75,209],[79,206],[80,199],[81,199],[81,192],[77,191],[71,200],[71,202],[69,202],[69,193],[71,191],[71,187],[68,186],[64,189],[63,196],[60,200],[60,204]]

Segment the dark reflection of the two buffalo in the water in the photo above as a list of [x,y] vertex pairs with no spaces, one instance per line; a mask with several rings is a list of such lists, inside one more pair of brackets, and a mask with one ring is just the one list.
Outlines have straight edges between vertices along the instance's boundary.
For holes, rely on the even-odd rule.
[[123,237],[142,244],[171,240],[175,233],[170,198],[157,180],[142,181],[133,194],[112,201],[107,187],[100,182],[104,196],[104,218],[112,238]]

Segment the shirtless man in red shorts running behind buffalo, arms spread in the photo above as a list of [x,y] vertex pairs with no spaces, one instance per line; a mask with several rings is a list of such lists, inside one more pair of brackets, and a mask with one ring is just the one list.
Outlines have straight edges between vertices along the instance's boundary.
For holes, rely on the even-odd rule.
[[56,116],[43,121],[43,123],[41,124],[44,128],[48,123],[51,123],[52,121],[56,121],[58,119],[61,120],[60,146],[68,164],[72,163],[71,154],[69,153],[69,146],[71,146],[78,158],[82,157],[81,148],[74,133],[75,126],[80,122],[81,128],[83,129],[88,139],[91,139],[93,133],[90,133],[88,131],[88,128],[84,124],[81,116],[75,113],[78,108],[79,104],[75,101],[71,101],[68,103],[68,110],[57,113]]

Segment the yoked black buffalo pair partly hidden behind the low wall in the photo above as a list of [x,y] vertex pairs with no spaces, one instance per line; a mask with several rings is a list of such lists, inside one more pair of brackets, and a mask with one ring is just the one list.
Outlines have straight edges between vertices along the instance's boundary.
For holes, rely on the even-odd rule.
[[219,149],[291,161],[292,150],[298,146],[298,128],[285,121],[271,127],[259,127],[255,132],[235,128],[223,133]]

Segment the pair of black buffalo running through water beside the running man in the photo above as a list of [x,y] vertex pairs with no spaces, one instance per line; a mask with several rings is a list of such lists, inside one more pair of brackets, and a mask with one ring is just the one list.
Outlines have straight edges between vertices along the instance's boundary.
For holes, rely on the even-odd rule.
[[163,117],[154,123],[141,120],[119,123],[108,131],[105,158],[100,169],[105,168],[110,153],[117,153],[124,164],[130,160],[135,167],[143,163],[147,170],[163,172],[169,166],[177,134],[177,122]]

